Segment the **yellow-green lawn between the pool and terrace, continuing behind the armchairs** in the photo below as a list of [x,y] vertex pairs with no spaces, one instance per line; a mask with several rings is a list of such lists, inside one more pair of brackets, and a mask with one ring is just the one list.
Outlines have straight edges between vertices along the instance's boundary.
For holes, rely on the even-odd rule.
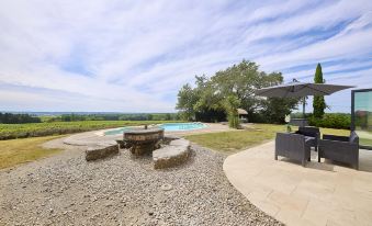
[[[285,132],[285,125],[255,124],[252,128],[189,135],[185,138],[203,147],[232,154],[271,140],[275,137],[277,132]],[[292,129],[295,131],[296,127],[292,127]],[[320,132],[332,135],[350,134],[349,131],[334,128],[320,128]]]

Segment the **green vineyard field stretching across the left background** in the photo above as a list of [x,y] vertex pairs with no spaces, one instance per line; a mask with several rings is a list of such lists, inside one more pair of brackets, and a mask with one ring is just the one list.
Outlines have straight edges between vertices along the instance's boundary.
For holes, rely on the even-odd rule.
[[149,125],[174,121],[78,121],[26,124],[0,124],[0,140],[71,134],[121,126]]

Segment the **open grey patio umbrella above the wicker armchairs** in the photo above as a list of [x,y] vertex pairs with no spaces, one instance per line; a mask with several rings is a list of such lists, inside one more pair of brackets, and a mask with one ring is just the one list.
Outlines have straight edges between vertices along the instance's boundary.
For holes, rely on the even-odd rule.
[[268,98],[304,98],[303,103],[303,114],[305,116],[305,98],[307,95],[329,95],[337,91],[353,88],[351,86],[340,86],[340,84],[325,84],[325,83],[309,83],[309,82],[298,82],[294,80],[293,82],[279,84],[274,87],[262,88],[256,90],[257,95],[268,97]]

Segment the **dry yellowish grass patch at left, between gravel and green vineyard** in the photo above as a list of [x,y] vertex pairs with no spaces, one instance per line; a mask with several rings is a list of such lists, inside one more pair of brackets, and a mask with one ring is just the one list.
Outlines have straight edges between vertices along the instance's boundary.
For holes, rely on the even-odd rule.
[[47,149],[41,146],[43,143],[58,137],[61,136],[0,140],[0,169],[59,152],[60,149]]

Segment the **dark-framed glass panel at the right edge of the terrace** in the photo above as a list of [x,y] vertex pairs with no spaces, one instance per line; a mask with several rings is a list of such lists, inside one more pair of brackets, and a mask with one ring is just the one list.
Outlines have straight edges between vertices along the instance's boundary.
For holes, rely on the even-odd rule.
[[360,145],[372,148],[372,89],[352,91],[351,114]]

